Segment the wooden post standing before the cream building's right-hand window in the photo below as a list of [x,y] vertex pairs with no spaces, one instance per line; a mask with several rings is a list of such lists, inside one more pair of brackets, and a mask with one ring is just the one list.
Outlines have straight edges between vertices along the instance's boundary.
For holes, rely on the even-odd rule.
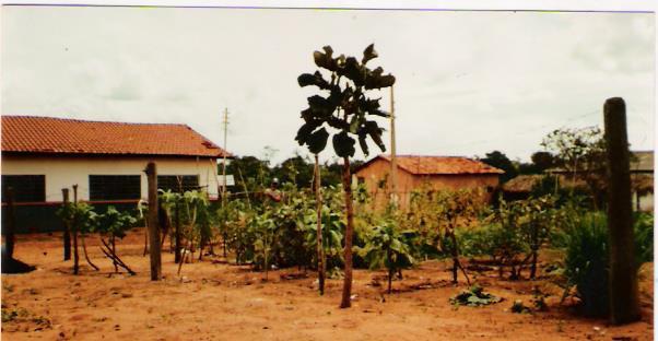
[[146,178],[149,183],[149,244],[151,245],[151,281],[162,279],[161,244],[160,244],[160,224],[157,223],[157,169],[155,163],[150,162],[146,165]]

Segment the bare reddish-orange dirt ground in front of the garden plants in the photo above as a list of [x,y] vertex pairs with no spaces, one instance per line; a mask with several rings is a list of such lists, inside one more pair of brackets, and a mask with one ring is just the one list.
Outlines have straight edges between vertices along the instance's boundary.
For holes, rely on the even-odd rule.
[[[2,324],[4,340],[651,340],[654,333],[653,263],[641,270],[643,320],[612,327],[578,317],[569,299],[561,305],[561,292],[547,281],[498,280],[495,272],[477,280],[503,302],[454,307],[449,297],[466,284],[451,285],[448,264],[438,261],[406,271],[391,295],[383,294],[384,272],[357,270],[353,306],[339,309],[340,280],[329,280],[319,296],[315,273],[297,269],[270,271],[265,282],[262,272],[205,258],[185,263],[177,277],[174,255],[163,254],[165,279],[151,282],[143,230],[117,250],[137,275],[114,273],[93,236],[87,247],[101,271],[81,252],[82,273],[75,277],[72,261],[62,261],[60,240],[19,238],[16,258],[37,270],[2,274],[3,316],[13,313]],[[554,294],[548,311],[510,313],[515,299],[531,306],[536,285]]]

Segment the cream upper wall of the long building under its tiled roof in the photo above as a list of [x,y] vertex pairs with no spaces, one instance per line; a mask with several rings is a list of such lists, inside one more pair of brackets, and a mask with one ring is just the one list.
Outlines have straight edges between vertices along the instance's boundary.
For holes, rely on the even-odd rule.
[[141,175],[142,198],[148,197],[143,169],[154,161],[158,175],[198,175],[208,186],[210,199],[218,198],[216,163],[209,158],[157,157],[26,157],[2,155],[2,175],[46,175],[46,201],[61,201],[61,189],[78,184],[78,198],[89,200],[90,175]]

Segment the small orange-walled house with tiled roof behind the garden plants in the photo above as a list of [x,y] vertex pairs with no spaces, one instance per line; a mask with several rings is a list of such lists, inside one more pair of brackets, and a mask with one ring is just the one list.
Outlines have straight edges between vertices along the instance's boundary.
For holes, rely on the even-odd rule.
[[[432,190],[480,188],[491,193],[498,186],[498,176],[504,173],[461,156],[398,155],[396,163],[397,196],[402,207],[408,205],[411,191],[423,186],[430,186]],[[390,188],[390,156],[378,155],[357,167],[355,176],[357,181],[365,184],[375,200],[385,200]]]

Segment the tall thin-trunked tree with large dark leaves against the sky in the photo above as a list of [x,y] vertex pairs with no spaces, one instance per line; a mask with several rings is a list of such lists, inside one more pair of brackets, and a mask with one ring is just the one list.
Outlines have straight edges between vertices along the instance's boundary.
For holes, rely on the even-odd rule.
[[[380,98],[372,98],[369,93],[393,85],[396,78],[384,74],[380,67],[369,69],[366,64],[377,58],[374,44],[363,51],[361,60],[340,55],[333,57],[333,49],[325,46],[324,51],[315,51],[315,64],[321,69],[315,73],[303,73],[297,78],[299,86],[317,86],[321,95],[308,97],[308,108],[302,110],[304,125],[295,140],[306,145],[313,154],[318,154],[327,145],[329,136],[333,151],[343,160],[343,190],[345,197],[346,230],[344,235],[344,282],[341,308],[350,307],[352,292],[352,237],[354,233],[354,210],[350,157],[354,156],[355,143],[365,155],[368,154],[368,138],[381,151],[386,150],[381,140],[384,129],[373,117],[388,117],[379,107]],[[322,74],[325,73],[325,74]],[[329,129],[329,130],[328,130]]]

